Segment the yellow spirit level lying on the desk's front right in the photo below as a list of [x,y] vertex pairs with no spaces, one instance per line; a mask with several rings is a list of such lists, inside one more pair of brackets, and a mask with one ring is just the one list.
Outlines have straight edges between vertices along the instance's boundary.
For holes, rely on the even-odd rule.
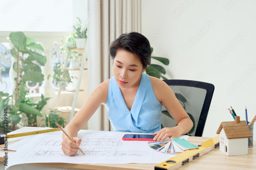
[[200,156],[218,148],[220,146],[220,135],[211,138],[198,146],[200,146],[199,149],[186,150],[162,163],[157,164],[155,166],[155,170],[178,169],[187,163],[194,161]]

